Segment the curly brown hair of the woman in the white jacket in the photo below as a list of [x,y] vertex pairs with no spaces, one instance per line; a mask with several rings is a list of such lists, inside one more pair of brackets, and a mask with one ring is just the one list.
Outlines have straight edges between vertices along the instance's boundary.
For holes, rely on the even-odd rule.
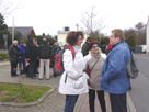
[[70,44],[71,46],[76,45],[80,35],[82,36],[82,38],[84,38],[83,33],[81,31],[69,32],[67,37],[66,37],[66,43]]

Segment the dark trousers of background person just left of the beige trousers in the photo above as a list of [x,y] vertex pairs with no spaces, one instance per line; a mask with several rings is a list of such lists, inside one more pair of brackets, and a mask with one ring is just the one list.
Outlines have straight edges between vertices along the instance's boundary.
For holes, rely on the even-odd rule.
[[30,60],[30,67],[28,67],[28,78],[33,78],[33,76],[35,75],[35,64],[36,60]]

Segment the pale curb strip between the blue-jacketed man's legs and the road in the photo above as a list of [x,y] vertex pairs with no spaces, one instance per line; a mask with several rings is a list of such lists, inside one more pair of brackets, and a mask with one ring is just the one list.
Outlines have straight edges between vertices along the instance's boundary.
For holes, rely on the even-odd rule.
[[127,108],[129,110],[128,112],[137,112],[136,107],[134,105],[133,100],[128,92],[127,92]]

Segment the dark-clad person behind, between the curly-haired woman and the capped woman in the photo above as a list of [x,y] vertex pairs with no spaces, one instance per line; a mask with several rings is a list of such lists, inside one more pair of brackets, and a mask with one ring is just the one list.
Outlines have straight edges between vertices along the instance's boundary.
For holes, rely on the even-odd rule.
[[92,37],[88,37],[85,43],[83,44],[83,46],[82,46],[83,56],[89,54],[89,44],[90,44],[91,41],[92,41]]

